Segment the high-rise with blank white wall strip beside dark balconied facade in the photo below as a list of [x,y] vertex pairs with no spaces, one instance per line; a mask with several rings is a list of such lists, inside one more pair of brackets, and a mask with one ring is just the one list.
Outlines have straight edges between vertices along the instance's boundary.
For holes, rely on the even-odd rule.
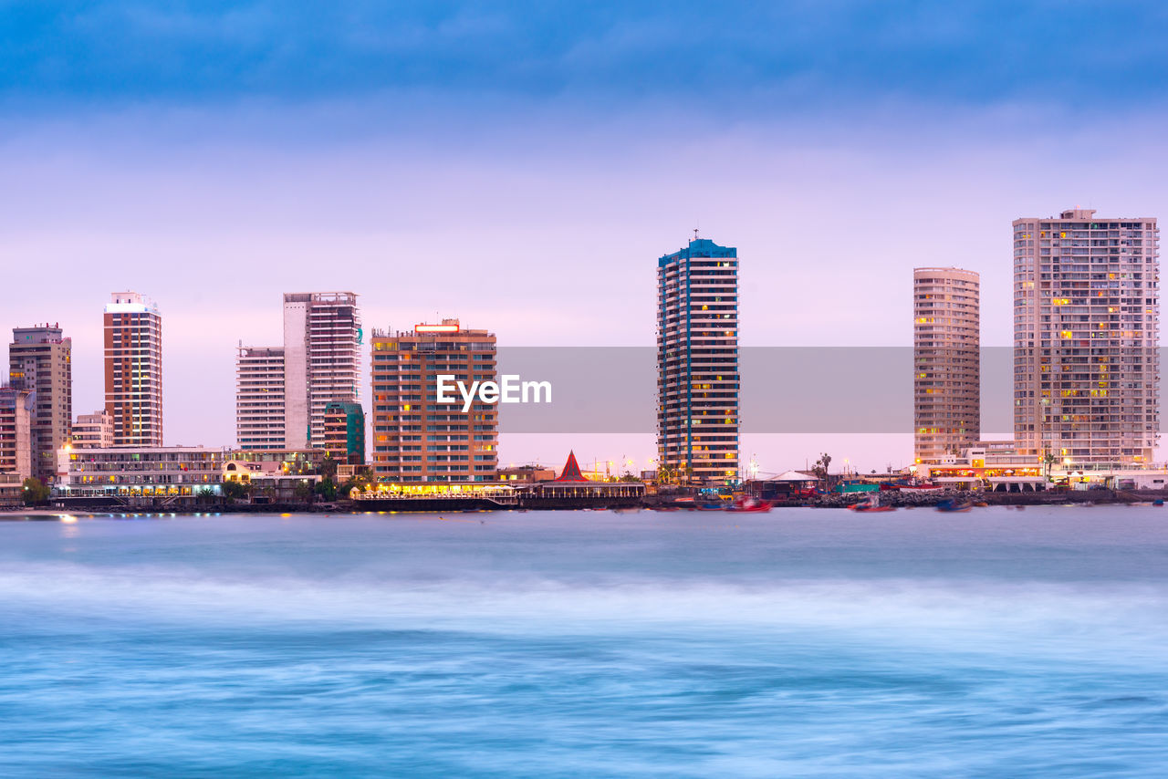
[[361,397],[361,314],[353,292],[284,295],[284,448],[325,445],[325,406]]

